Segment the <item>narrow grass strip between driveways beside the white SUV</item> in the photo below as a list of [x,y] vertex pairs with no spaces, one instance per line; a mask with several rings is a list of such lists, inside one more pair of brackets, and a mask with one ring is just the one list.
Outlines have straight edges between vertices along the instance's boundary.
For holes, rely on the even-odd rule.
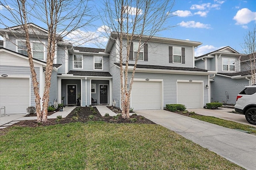
[[213,117],[213,116],[194,115],[194,114],[190,115],[190,117],[193,117],[195,119],[199,119],[199,120],[202,120],[202,121],[207,121],[209,123],[214,123],[216,125],[220,125],[220,126],[223,126],[223,127],[228,127],[230,129],[241,129],[241,130],[244,130],[244,131],[250,131],[252,133],[256,133],[256,130],[250,129],[250,128],[256,129],[255,127],[252,127],[250,125],[244,125],[242,123],[237,123],[237,122],[234,122],[234,121],[228,121],[228,120],[220,119],[220,118]]

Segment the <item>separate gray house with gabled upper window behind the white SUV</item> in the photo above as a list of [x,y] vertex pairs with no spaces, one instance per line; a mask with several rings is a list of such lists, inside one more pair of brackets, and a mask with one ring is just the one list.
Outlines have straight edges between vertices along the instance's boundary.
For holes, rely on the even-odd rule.
[[231,47],[224,47],[200,57],[195,66],[215,72],[210,75],[210,99],[235,104],[236,96],[250,84],[250,73],[242,70],[240,58],[245,56]]

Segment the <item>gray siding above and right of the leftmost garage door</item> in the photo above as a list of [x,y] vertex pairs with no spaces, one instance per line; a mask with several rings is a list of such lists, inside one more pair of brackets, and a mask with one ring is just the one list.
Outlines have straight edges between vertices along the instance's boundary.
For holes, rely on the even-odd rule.
[[[36,79],[38,82],[40,82],[40,68],[39,67],[35,67],[35,71],[36,71]],[[30,67],[21,67],[21,66],[0,66],[0,74],[14,74],[14,75],[30,75],[31,77],[31,71],[30,71]],[[34,95],[34,88],[33,88],[33,83],[32,83],[32,78],[31,78],[31,106],[36,106],[36,102],[35,102],[35,95]],[[39,86],[39,84],[38,84]],[[40,89],[39,89],[40,90]],[[40,91],[39,91],[40,93]]]

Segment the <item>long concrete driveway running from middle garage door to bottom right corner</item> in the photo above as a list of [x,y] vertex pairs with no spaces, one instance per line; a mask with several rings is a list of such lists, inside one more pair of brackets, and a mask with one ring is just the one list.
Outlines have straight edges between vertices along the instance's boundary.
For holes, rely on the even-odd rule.
[[136,113],[248,170],[256,167],[256,136],[165,110]]

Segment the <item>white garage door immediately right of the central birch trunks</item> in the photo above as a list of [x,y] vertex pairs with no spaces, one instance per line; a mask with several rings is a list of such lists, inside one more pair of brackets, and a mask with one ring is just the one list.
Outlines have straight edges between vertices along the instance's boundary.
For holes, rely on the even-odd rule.
[[161,109],[162,82],[134,81],[131,107],[134,110]]

